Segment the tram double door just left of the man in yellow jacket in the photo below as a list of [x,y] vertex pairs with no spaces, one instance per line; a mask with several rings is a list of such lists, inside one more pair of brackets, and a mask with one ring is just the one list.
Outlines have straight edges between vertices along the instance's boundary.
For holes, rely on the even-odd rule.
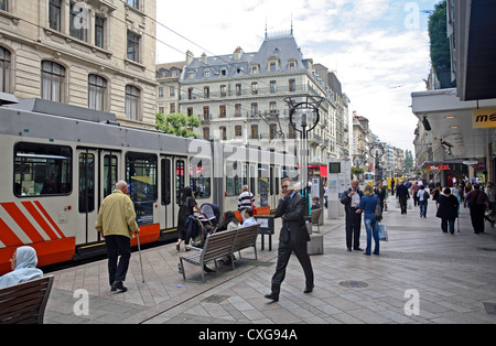
[[[77,220],[76,220],[76,244],[88,244],[98,240],[98,233],[95,229],[97,218],[97,160],[98,152],[90,149],[77,150]],[[76,187],[75,187],[76,188]]]

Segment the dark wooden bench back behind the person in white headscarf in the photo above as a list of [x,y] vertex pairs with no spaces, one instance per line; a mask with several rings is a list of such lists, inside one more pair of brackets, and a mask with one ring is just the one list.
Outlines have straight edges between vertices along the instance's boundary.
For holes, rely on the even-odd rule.
[[0,324],[43,324],[53,277],[0,290]]

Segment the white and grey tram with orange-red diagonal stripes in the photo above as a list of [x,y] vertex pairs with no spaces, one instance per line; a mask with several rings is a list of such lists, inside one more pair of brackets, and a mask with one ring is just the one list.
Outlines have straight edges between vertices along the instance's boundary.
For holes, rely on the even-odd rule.
[[42,99],[0,107],[0,274],[23,245],[40,267],[104,253],[94,225],[118,180],[150,244],[177,238],[182,187],[226,212],[248,185],[257,208],[270,209],[298,166],[294,155],[126,128],[112,113]]

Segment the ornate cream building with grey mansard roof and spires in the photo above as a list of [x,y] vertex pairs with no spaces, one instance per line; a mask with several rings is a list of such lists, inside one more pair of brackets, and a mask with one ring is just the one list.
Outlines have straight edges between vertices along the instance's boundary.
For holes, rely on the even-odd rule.
[[[300,133],[290,123],[284,98],[324,97],[321,120],[309,134],[309,160],[326,164],[328,158],[342,154],[336,127],[342,133],[344,120],[337,122],[336,113],[347,113],[345,102],[337,112],[326,79],[327,75],[317,75],[311,58],[303,57],[292,31],[266,34],[258,52],[237,47],[233,54],[197,58],[187,52],[180,80],[180,109],[202,119],[198,134],[206,140],[300,155]],[[343,140],[341,145],[347,143]]]

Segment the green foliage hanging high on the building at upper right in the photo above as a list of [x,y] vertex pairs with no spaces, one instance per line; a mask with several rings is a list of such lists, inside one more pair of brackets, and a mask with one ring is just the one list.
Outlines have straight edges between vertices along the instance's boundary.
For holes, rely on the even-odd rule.
[[448,39],[446,0],[435,6],[429,19],[429,36],[431,39],[431,61],[440,77],[440,69],[451,67],[450,40]]

